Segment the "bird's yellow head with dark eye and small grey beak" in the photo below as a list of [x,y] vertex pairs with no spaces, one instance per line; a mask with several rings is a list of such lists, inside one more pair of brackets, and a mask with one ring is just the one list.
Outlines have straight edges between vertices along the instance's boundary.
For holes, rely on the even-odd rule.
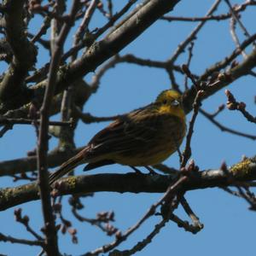
[[182,105],[182,96],[177,90],[164,90],[157,96],[155,103],[160,113],[170,113],[180,119],[185,118]]

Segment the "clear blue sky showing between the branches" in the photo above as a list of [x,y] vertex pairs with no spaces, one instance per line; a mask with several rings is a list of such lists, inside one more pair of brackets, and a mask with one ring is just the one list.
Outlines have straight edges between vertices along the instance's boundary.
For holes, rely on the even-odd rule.
[[[114,1],[118,2],[118,1]],[[120,3],[120,2],[119,2]],[[183,0],[177,4],[171,15],[202,16],[212,5],[212,0]],[[242,1],[231,1],[231,3],[242,3]],[[227,6],[220,4],[218,14],[226,13]],[[247,26],[249,32],[255,32],[253,23],[255,20],[256,7],[242,15],[242,21]],[[97,17],[100,17],[98,15]],[[100,18],[98,18],[100,19]],[[35,25],[33,29],[40,26]],[[102,20],[94,20],[102,22]],[[94,24],[94,23],[92,23]],[[128,45],[120,52],[121,55],[131,53],[142,58],[165,61],[174,50],[177,44],[183,41],[189,32],[196,26],[196,23],[173,22],[159,20],[148,31],[144,32],[140,38]],[[91,29],[93,27],[90,27]],[[238,29],[239,31],[239,29]],[[241,33],[240,33],[241,34]],[[241,35],[241,41],[243,40]],[[72,38],[69,38],[72,42]],[[68,44],[67,44],[68,45]],[[210,21],[201,30],[198,40],[195,43],[194,58],[191,63],[191,70],[201,74],[207,67],[216,61],[220,61],[225,55],[229,55],[235,49],[230,32],[229,20],[224,22]],[[248,50],[249,52],[249,50]],[[39,63],[47,61],[44,52],[38,57]],[[178,59],[179,65],[187,60],[187,53]],[[241,59],[239,59],[241,61]],[[5,66],[0,66],[3,69]],[[3,69],[4,70],[4,69]],[[84,79],[90,81],[89,74]],[[183,77],[178,77],[177,82],[183,84]],[[255,95],[255,80],[246,77],[235,81],[229,85],[238,101],[247,102],[247,109],[250,113],[255,113],[253,96]],[[154,98],[161,90],[170,88],[170,81],[167,73],[163,70],[139,67],[133,64],[119,64],[114,69],[110,69],[102,78],[101,85],[97,93],[91,96],[89,102],[84,107],[84,112],[90,112],[96,116],[109,116],[119,113],[126,113],[134,108],[141,107],[153,102]],[[214,112],[218,106],[226,102],[224,90],[203,102],[203,108],[209,112]],[[58,116],[55,117],[58,119]],[[190,114],[187,116],[190,119]],[[224,110],[220,113],[218,120],[224,125],[228,125],[240,131],[256,134],[255,125],[249,124],[240,113]],[[100,131],[108,123],[84,125],[79,123],[75,136],[77,146],[85,145],[97,131]],[[56,141],[50,143],[53,148]],[[30,126],[15,126],[0,141],[0,160],[25,157],[26,152],[35,148],[36,136],[34,129]],[[183,148],[183,147],[182,147]],[[242,155],[253,156],[255,154],[255,143],[243,137],[236,137],[213,126],[201,115],[196,120],[195,134],[192,139],[192,158],[200,166],[201,170],[218,168],[222,161],[232,165],[241,160]],[[167,165],[178,167],[177,154],[172,155],[165,162]],[[77,168],[77,173],[81,174],[83,166]],[[0,170],[1,171],[1,170]],[[131,172],[126,166],[105,166],[91,173],[102,172]],[[18,184],[18,183],[16,183]],[[10,178],[1,177],[1,187],[11,186]],[[160,198],[160,194],[139,194],[125,193],[98,193],[93,198],[84,200],[84,215],[93,218],[96,212],[113,210],[115,212],[115,226],[124,230],[135,224],[143,213],[147,211],[155,201]],[[161,230],[160,234],[139,256],[160,255],[253,255],[256,213],[249,211],[247,203],[226,194],[220,189],[201,189],[188,192],[186,198],[190,206],[200,217],[205,228],[197,235],[177,227],[176,224],[168,223]],[[64,201],[67,198],[64,199]],[[30,216],[32,226],[35,230],[42,227],[42,213],[40,202],[31,202],[21,206],[23,212]],[[14,208],[5,212],[0,212],[1,232],[5,235],[27,237],[26,230],[14,221]],[[177,210],[177,214],[187,218],[182,209]],[[72,218],[70,208],[64,209],[64,216]],[[159,217],[148,220],[141,230],[131,236],[131,239],[122,243],[119,249],[133,247],[137,241],[143,238],[154,228],[154,224],[160,221]],[[102,231],[91,227],[89,224],[79,224],[73,220],[73,227],[79,230],[79,245],[73,245],[70,236],[60,235],[60,247],[62,253],[79,255],[92,250],[102,244],[112,241],[113,238],[106,237]],[[0,253],[7,255],[36,255],[39,253],[38,247],[26,247],[22,245],[12,245],[1,243]]]

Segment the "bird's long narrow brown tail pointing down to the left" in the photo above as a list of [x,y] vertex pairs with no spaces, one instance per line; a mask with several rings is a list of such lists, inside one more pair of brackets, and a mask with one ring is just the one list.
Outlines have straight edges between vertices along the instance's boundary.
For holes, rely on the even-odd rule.
[[75,168],[76,166],[79,166],[80,164],[85,162],[84,149],[82,151],[80,151],[79,154],[76,154],[75,156],[73,156],[73,158],[64,162],[57,171],[55,171],[49,175],[49,184],[50,185],[52,183],[55,183],[55,181],[57,179],[64,176],[68,172],[71,172],[73,170],[73,168]]

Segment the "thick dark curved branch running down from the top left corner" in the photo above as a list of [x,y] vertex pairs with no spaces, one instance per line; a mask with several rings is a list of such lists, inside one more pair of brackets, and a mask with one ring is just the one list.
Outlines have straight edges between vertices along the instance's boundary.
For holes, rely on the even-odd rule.
[[2,109],[17,108],[32,96],[31,91],[26,90],[24,80],[36,61],[37,49],[26,38],[26,27],[23,22],[24,3],[25,0],[9,0],[5,3],[6,37],[14,56],[0,84]]

